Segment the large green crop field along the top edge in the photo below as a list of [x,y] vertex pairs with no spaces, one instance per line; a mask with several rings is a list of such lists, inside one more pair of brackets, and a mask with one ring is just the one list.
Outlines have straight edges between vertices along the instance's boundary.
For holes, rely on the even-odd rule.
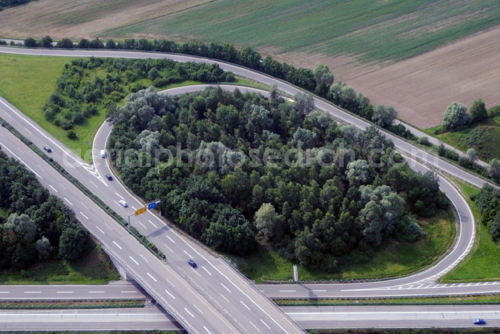
[[215,0],[101,33],[404,59],[497,25],[497,0]]

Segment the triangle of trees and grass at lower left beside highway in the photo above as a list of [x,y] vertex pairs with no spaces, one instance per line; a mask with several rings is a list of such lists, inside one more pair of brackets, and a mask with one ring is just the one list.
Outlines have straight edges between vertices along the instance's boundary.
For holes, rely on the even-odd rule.
[[0,282],[107,282],[109,259],[74,212],[0,151]]

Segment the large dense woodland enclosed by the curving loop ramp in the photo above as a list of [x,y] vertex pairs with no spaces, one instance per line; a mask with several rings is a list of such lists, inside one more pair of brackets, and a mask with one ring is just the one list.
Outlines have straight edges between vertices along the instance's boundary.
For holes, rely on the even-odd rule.
[[161,198],[164,215],[221,251],[245,254],[257,241],[334,271],[387,237],[422,236],[415,217],[447,205],[437,177],[388,164],[402,157],[375,127],[357,133],[294,99],[140,90],[108,112],[111,158],[135,193]]

